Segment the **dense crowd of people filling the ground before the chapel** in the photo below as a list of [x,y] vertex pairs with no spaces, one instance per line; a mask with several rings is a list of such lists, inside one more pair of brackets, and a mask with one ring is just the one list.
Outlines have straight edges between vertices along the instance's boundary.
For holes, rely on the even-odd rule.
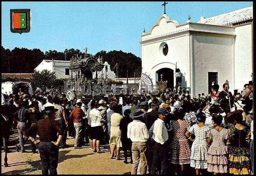
[[253,84],[241,94],[228,89],[225,83],[221,92],[215,84],[211,94],[193,97],[184,91],[68,100],[37,88],[33,95],[2,94],[2,121],[17,127],[17,152],[27,152],[28,139],[33,153],[38,148],[42,174],[57,174],[59,148],[72,138],[74,149],[88,145],[98,154],[109,145],[110,159],[122,160],[123,150],[131,174],[253,174]]

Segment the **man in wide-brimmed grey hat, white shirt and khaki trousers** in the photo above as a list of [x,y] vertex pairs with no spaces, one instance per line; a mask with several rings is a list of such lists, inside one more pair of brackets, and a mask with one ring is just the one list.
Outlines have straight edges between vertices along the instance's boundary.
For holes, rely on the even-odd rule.
[[141,162],[141,174],[147,174],[148,157],[148,130],[143,123],[143,116],[146,114],[141,109],[135,109],[130,117],[134,119],[127,127],[127,138],[132,141],[132,172],[137,174],[139,162]]

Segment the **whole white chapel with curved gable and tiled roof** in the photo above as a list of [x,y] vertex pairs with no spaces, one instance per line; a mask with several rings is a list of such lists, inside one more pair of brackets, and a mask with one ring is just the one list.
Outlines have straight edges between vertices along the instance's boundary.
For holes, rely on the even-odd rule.
[[175,68],[182,73],[182,88],[191,95],[208,94],[212,82],[229,81],[230,92],[243,90],[252,80],[253,10],[247,7],[179,24],[163,14],[141,35],[142,72],[153,84],[167,81],[174,87]]

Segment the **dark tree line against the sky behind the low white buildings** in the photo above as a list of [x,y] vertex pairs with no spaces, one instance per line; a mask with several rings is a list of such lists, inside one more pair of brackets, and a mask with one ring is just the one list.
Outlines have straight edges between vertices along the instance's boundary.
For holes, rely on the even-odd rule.
[[[70,61],[72,56],[82,56],[79,49],[65,49],[63,52],[56,50],[49,50],[43,53],[40,49],[27,49],[17,48],[13,50],[5,49],[1,47],[2,55],[2,73],[33,73],[34,69],[45,60],[60,60]],[[87,57],[89,53],[87,53]],[[118,77],[126,78],[126,72],[128,70],[128,77],[140,77],[141,74],[141,58],[135,56],[132,53],[124,53],[123,51],[100,51],[96,53],[95,57],[102,57],[103,62],[107,61],[110,65],[110,69],[115,72]],[[116,63],[118,68],[114,69]]]

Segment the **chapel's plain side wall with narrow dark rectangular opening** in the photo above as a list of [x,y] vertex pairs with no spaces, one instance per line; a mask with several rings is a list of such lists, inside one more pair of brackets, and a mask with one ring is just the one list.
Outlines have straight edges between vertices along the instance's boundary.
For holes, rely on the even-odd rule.
[[232,38],[193,35],[195,95],[208,94],[208,72],[218,72],[219,91],[226,79],[232,83]]

